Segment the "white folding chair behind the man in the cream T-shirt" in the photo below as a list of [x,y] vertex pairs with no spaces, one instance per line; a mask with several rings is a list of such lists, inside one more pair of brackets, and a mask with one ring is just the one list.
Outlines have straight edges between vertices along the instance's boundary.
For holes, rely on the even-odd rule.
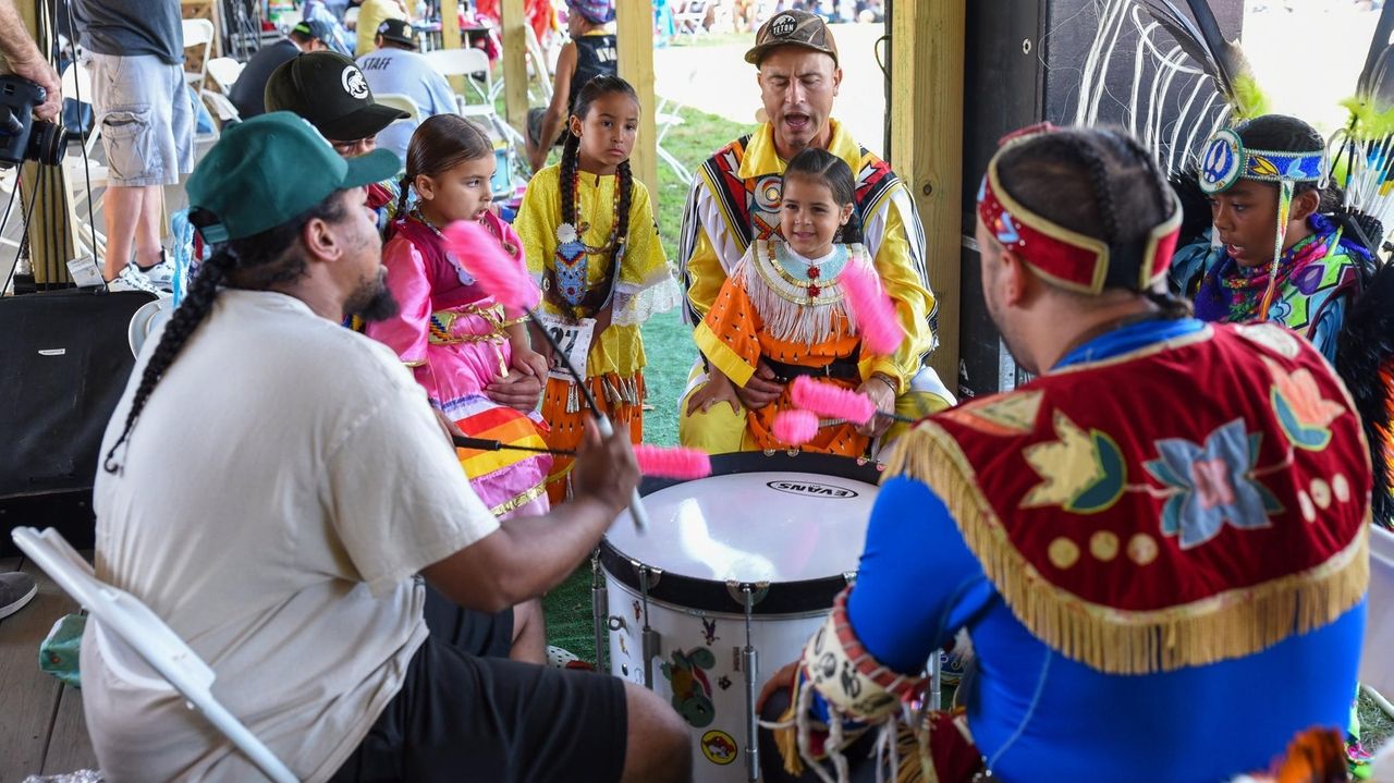
[[290,768],[213,698],[213,670],[149,606],[134,595],[99,581],[92,566],[59,531],[47,528],[40,534],[35,528],[15,528],[10,535],[21,552],[86,607],[91,614],[88,623],[96,624],[96,635],[103,642],[123,644],[139,655],[188,701],[190,708],[202,712],[213,727],[247,754],[266,777],[275,783],[296,783]]

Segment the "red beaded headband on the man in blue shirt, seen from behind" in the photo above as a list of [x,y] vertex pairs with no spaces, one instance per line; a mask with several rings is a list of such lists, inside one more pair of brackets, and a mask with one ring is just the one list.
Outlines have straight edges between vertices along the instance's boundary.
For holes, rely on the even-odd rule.
[[[1108,280],[1111,256],[1108,244],[1033,213],[1013,199],[997,177],[997,160],[1004,150],[1051,131],[1054,128],[1046,127],[1036,132],[1013,134],[997,150],[987,164],[987,174],[977,194],[977,215],[1002,247],[1051,283],[1073,291],[1098,294]],[[1181,205],[1172,195],[1171,216],[1147,235],[1136,277],[1138,290],[1150,288],[1165,277],[1179,234]]]

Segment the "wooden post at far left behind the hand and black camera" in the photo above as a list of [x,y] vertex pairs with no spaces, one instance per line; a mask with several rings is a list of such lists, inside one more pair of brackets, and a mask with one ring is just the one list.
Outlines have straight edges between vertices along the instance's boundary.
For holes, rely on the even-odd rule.
[[[43,8],[42,0],[21,0],[15,4],[24,26],[38,42],[39,52],[50,52],[53,46],[53,17],[52,8]],[[24,199],[15,203],[15,215],[11,220],[22,220],[33,203],[33,215],[29,219],[29,266],[33,270],[33,280],[42,286],[61,286],[71,283],[68,274],[68,261],[72,258],[72,233],[68,224],[68,192],[67,178],[61,166],[39,166],[25,163],[20,173],[22,187],[20,189]],[[96,259],[100,263],[102,259]]]

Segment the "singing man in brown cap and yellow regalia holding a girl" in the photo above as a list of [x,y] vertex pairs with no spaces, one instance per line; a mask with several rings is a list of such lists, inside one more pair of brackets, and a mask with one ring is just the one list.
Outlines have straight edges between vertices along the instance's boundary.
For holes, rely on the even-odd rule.
[[[909,189],[891,166],[832,120],[832,100],[842,84],[832,31],[807,11],[782,11],[760,28],[746,61],[758,68],[765,121],[756,132],[717,150],[693,177],[677,251],[687,319],[697,323],[707,315],[751,241],[778,237],[785,162],[809,146],[827,149],[857,174],[856,206],[866,248],[899,304],[906,333],[894,357],[861,362],[859,392],[882,411],[910,418],[948,407],[953,396],[923,364],[938,341],[924,230]],[[746,407],[761,408],[782,393],[779,376],[761,362],[736,393]],[[710,453],[739,450],[742,411],[712,404],[705,380],[704,371],[696,368],[679,408],[679,439]],[[877,417],[864,433],[884,435],[888,424],[888,418]],[[892,431],[887,439],[895,435]]]

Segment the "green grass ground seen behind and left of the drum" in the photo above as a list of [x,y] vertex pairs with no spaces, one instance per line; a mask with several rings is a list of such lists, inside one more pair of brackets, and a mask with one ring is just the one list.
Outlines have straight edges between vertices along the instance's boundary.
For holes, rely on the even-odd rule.
[[[747,131],[746,127],[721,117],[683,109],[683,124],[664,139],[664,148],[687,169],[696,169],[721,145]],[[553,160],[556,153],[553,152]],[[690,183],[677,177],[659,162],[658,192],[652,194],[658,212],[658,233],[668,259],[677,263],[677,231],[683,222],[683,203]],[[644,325],[644,352],[648,366],[648,403],[654,410],[644,412],[644,440],[659,446],[677,444],[677,397],[687,385],[687,372],[697,358],[691,330],[682,322],[679,311],[655,315]],[[572,577],[542,599],[546,613],[548,642],[566,648],[584,660],[595,659],[591,628],[591,567],[583,564]]]

